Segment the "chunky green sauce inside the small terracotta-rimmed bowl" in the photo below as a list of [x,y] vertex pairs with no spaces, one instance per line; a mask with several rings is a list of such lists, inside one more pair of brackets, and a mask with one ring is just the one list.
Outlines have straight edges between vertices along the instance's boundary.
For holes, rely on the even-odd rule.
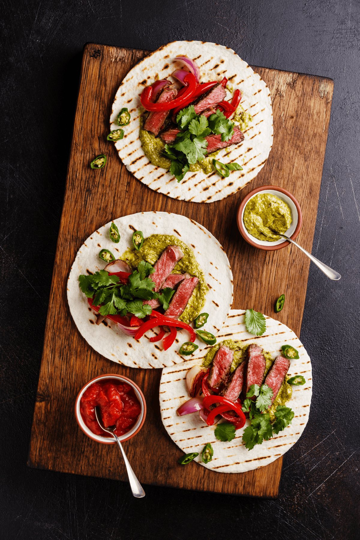
[[291,211],[282,199],[271,193],[258,193],[245,207],[243,222],[246,230],[258,240],[280,240],[291,225]]

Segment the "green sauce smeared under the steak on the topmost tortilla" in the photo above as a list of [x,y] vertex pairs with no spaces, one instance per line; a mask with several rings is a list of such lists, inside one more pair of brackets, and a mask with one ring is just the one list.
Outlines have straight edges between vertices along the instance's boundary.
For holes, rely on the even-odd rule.
[[[144,120],[140,117],[140,131],[139,137],[142,143],[142,150],[144,150],[145,156],[155,167],[161,167],[169,170],[171,161],[163,156],[165,149],[165,143],[160,137],[155,137],[150,131],[146,131],[142,128]],[[220,150],[209,154],[202,161],[196,161],[193,165],[190,165],[190,172],[203,171],[205,174],[210,174],[214,171],[213,158],[215,158]]]

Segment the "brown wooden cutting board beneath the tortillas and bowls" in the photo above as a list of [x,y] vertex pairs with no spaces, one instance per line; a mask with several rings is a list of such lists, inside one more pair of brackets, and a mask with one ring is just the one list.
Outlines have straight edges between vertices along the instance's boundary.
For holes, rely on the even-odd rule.
[[[267,83],[273,103],[274,145],[269,159],[239,193],[211,204],[187,203],[141,184],[127,172],[113,144],[106,140],[118,86],[147,54],[97,44],[84,48],[28,465],[127,480],[117,446],[90,440],[74,417],[74,400],[87,381],[100,374],[119,373],[139,385],[147,403],[144,427],[124,443],[141,483],[274,498],[279,492],[282,458],[243,474],[215,473],[196,463],[178,465],[182,452],[167,436],[160,419],[161,370],[126,368],[94,352],[71,318],[66,280],[84,239],[106,222],[139,211],[183,214],[207,227],[225,249],[234,274],[233,308],[252,307],[300,335],[309,259],[291,246],[270,252],[253,248],[237,230],[235,215],[240,201],[253,188],[266,184],[286,188],[303,212],[298,242],[311,252],[334,82],[253,68]],[[101,153],[108,157],[106,167],[91,170],[90,161]],[[275,314],[274,300],[282,293],[287,300],[282,312]]]

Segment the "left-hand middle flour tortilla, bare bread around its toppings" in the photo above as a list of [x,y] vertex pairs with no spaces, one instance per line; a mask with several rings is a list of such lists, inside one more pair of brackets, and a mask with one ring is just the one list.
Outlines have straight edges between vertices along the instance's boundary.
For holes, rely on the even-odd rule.
[[72,318],[89,345],[113,362],[135,368],[174,366],[184,360],[178,351],[182,343],[189,340],[186,330],[178,330],[173,345],[163,350],[161,341],[150,342],[155,335],[153,330],[148,330],[139,341],[135,341],[108,319],[104,321],[106,324],[103,322],[97,326],[96,314],[79,288],[79,275],[105,268],[106,263],[99,259],[101,249],[110,249],[115,257],[120,258],[127,247],[132,246],[132,234],[136,230],[142,231],[145,238],[152,234],[173,235],[191,247],[205,275],[209,291],[201,311],[209,313],[206,329],[216,335],[225,323],[233,302],[233,275],[228,258],[218,240],[205,227],[183,215],[141,212],[116,219],[114,223],[121,237],[119,244],[110,240],[111,222],[107,223],[85,240],[72,264],[67,280],[67,300]]

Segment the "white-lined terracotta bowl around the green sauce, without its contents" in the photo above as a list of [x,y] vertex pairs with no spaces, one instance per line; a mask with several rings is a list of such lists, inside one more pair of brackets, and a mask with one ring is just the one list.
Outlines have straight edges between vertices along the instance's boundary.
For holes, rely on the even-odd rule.
[[302,226],[302,212],[301,212],[300,205],[298,204],[294,195],[290,193],[289,191],[284,190],[282,187],[261,186],[261,187],[257,187],[253,191],[250,191],[250,193],[248,193],[246,197],[241,201],[239,208],[237,208],[237,214],[236,214],[237,227],[239,228],[239,231],[243,239],[246,240],[250,245],[254,247],[258,247],[259,249],[266,249],[267,251],[275,251],[275,249],[282,249],[283,247],[289,246],[290,242],[288,242],[284,238],[282,238],[281,240],[276,240],[276,242],[266,242],[263,240],[257,240],[257,238],[249,234],[246,228],[244,227],[243,215],[244,215],[245,207],[249,199],[252,199],[254,195],[257,195],[258,193],[271,193],[273,195],[276,195],[276,197],[279,197],[280,199],[282,199],[285,203],[287,203],[291,211],[291,218],[293,219],[293,222],[291,223],[290,227],[288,228],[285,234],[289,238],[291,238],[291,240],[295,240],[298,233],[300,233],[300,229]]

